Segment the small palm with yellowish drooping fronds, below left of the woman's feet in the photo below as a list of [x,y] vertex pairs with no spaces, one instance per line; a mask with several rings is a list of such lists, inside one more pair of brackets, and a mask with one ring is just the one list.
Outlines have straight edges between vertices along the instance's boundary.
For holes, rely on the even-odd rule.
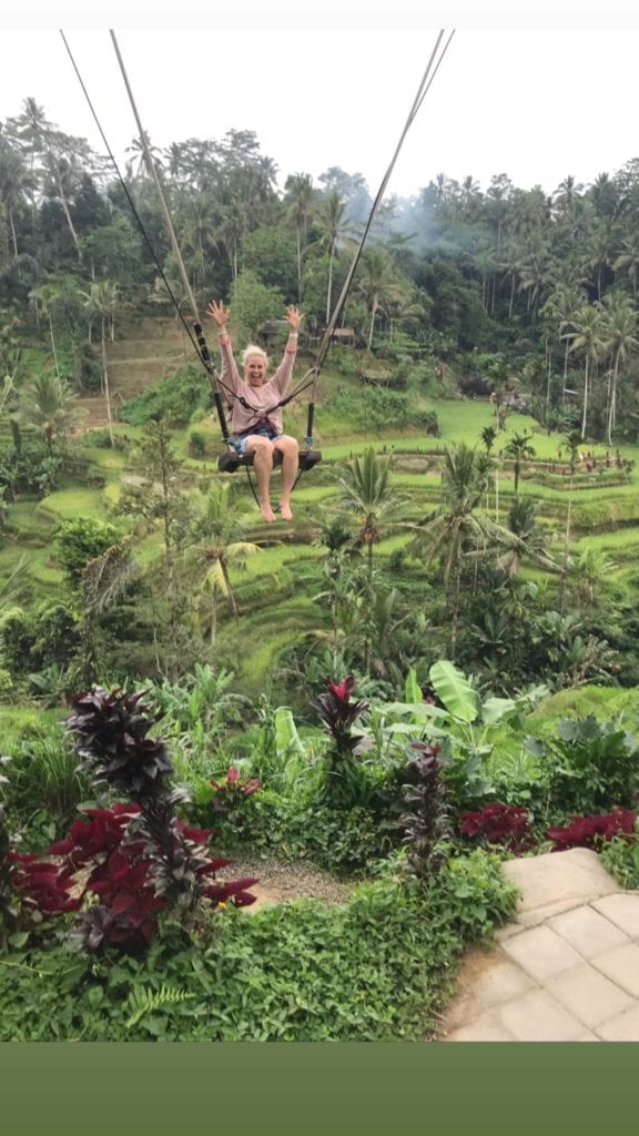
[[190,548],[189,554],[194,553],[197,562],[204,566],[200,594],[210,596],[211,645],[217,634],[218,594],[227,601],[234,619],[240,615],[231,584],[231,567],[246,568],[247,558],[259,551],[257,544],[242,540],[242,523],[229,503],[230,488],[229,482],[214,482],[206,495],[200,494],[191,502],[196,513],[194,532],[198,534],[198,543]]

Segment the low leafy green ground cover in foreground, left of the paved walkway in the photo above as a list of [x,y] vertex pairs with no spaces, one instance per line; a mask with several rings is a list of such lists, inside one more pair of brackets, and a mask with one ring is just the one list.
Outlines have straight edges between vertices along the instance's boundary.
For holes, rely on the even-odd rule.
[[348,903],[216,917],[208,942],[166,927],[147,957],[14,946],[0,964],[0,1041],[424,1038],[464,946],[512,914],[515,888],[483,851],[437,888],[381,879]]

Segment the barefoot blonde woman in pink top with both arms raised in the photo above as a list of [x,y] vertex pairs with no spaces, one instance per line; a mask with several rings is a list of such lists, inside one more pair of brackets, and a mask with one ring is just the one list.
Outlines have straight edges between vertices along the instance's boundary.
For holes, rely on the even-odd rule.
[[[266,381],[266,369],[268,358],[262,348],[250,344],[243,356],[244,368],[243,379],[240,377],[238,365],[233,358],[231,339],[226,332],[229,309],[223,302],[209,303],[207,314],[217,324],[219,351],[222,356],[222,370],[219,382],[227,391],[231,389],[235,398],[232,402],[231,427],[238,436],[240,453],[254,454],[254,469],[257,478],[259,494],[259,509],[262,516],[269,524],[275,520],[275,513],[271,508],[269,487],[271,474],[273,471],[273,454],[279,450],[282,454],[282,499],[280,501],[280,513],[284,520],[292,520],[291,512],[291,490],[296,479],[298,468],[298,444],[294,437],[289,437],[282,433],[282,408],[273,407],[280,402],[287,393],[290,383],[293,364],[297,352],[298,328],[302,316],[297,308],[287,308],[287,323],[290,327],[289,340],[284,349],[284,358],[273,375]],[[252,408],[247,410],[238,402],[238,396],[246,399]]]

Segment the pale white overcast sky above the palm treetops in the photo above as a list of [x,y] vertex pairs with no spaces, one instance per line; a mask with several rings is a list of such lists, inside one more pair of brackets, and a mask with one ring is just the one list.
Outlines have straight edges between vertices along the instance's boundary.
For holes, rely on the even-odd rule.
[[136,127],[113,27],[155,145],[251,130],[281,184],[288,174],[317,178],[341,166],[363,174],[374,194],[437,32],[456,27],[388,192],[408,197],[439,172],[458,181],[472,174],[484,189],[506,173],[517,186],[551,192],[567,174],[588,184],[639,157],[639,5],[637,14],[631,3],[612,5],[590,18],[583,2],[539,0],[531,11],[493,5],[480,20],[471,5],[424,11],[424,0],[396,0],[393,16],[373,0],[230,0],[226,14],[193,0],[179,12],[140,0],[113,0],[101,11],[85,0],[53,17],[44,2],[20,3],[10,18],[0,15],[0,120],[33,95],[61,130],[103,152],[61,27],[124,161]]

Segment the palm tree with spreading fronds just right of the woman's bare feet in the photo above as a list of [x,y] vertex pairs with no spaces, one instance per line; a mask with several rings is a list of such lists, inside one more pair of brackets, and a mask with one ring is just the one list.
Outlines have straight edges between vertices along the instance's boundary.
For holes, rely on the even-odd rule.
[[[358,541],[365,545],[367,553],[367,592],[368,615],[374,607],[373,591],[373,549],[381,540],[380,524],[389,512],[395,511],[400,501],[395,495],[390,484],[390,458],[381,460],[371,446],[362,457],[354,458],[339,478],[339,504],[342,509],[356,513],[360,528]],[[372,630],[366,633],[364,667],[371,666]]]

